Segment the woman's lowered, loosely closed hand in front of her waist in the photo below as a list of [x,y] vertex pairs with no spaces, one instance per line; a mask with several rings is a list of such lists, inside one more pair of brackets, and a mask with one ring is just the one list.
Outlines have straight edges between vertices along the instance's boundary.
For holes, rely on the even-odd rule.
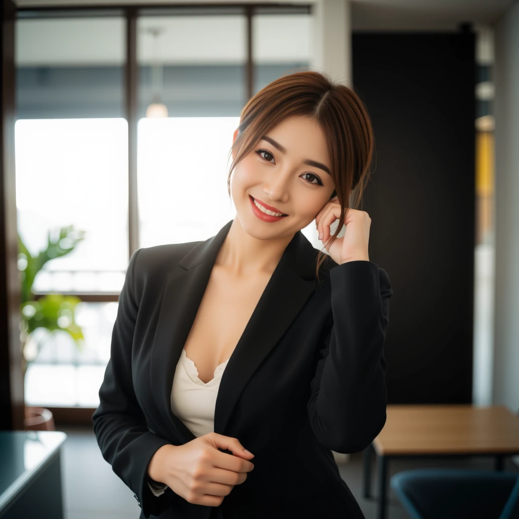
[[149,462],[148,474],[190,503],[217,507],[247,479],[254,468],[248,460],[253,457],[236,438],[210,432],[183,445],[160,447]]

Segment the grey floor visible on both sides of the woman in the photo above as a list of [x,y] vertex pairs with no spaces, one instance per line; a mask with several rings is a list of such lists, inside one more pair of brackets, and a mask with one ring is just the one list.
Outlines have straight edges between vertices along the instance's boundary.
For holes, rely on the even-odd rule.
[[[140,508],[133,492],[116,476],[103,459],[95,436],[85,427],[58,427],[67,434],[63,447],[62,479],[65,519],[138,519]],[[492,469],[493,461],[484,458],[468,460],[395,460],[389,465],[389,477],[396,472],[425,467],[465,467]],[[505,470],[519,472],[519,467],[507,459]],[[345,465],[339,466],[344,481],[356,497],[366,516],[375,519],[376,501],[361,497],[362,454],[352,454]],[[376,467],[373,456],[372,493],[376,493]],[[387,519],[408,519],[392,491],[389,491]]]

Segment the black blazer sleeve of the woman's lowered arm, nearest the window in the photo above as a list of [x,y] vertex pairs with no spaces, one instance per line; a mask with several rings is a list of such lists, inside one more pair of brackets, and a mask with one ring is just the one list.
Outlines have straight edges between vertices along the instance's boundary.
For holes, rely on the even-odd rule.
[[147,481],[155,452],[170,442],[151,432],[146,424],[132,381],[132,344],[139,303],[135,298],[134,269],[142,249],[130,258],[119,295],[112,331],[110,360],[99,390],[99,407],[92,415],[94,434],[103,458],[133,491],[144,517],[160,515],[169,506],[167,495],[155,496]]

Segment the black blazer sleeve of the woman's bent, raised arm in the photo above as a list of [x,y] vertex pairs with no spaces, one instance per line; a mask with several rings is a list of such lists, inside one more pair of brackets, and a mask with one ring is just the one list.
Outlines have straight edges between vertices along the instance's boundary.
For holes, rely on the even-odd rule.
[[389,276],[371,261],[330,269],[333,325],[323,341],[307,403],[320,443],[337,453],[365,449],[386,423],[384,341]]

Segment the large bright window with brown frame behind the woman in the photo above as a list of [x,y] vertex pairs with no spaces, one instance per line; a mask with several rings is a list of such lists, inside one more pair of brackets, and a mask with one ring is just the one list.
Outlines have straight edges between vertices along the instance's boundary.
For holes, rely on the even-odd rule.
[[241,109],[276,77],[308,66],[309,12],[164,6],[139,10],[133,25],[131,8],[19,9],[19,235],[37,256],[60,228],[85,231],[32,285],[36,298],[80,299],[83,348],[65,332],[31,334],[28,405],[97,407],[130,254],[207,239],[234,218],[227,175]]

